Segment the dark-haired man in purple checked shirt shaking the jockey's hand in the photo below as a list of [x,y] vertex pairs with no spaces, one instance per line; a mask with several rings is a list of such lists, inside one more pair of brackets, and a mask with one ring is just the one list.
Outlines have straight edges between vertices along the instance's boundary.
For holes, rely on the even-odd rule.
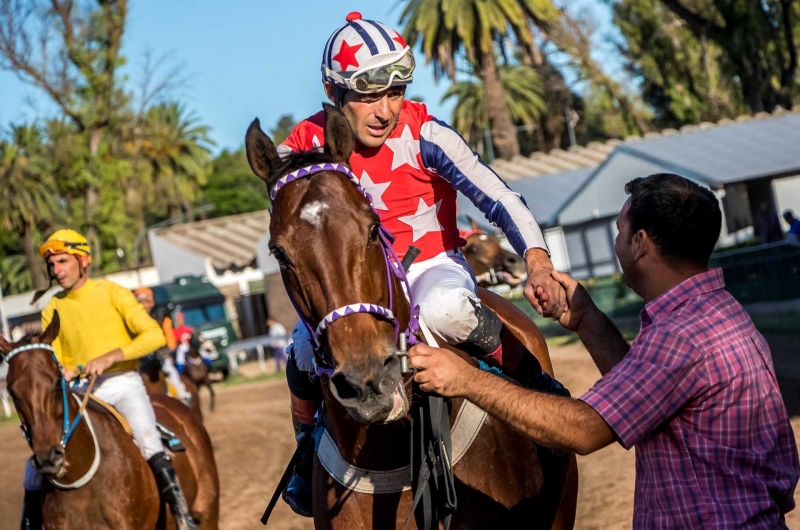
[[580,399],[519,388],[445,350],[418,346],[426,391],[463,396],[538,443],[580,454],[636,446],[634,528],[787,528],[797,446],[769,346],[708,259],[721,227],[714,194],[677,175],[628,183],[615,250],[644,298],[622,338],[574,279],[559,319],[603,377]]

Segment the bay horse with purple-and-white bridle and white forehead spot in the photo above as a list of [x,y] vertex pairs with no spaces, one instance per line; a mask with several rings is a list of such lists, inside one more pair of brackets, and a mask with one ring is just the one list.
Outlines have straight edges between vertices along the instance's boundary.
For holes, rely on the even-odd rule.
[[[374,476],[409,466],[411,460],[411,377],[401,374],[394,324],[406,327],[412,311],[404,296],[392,297],[392,292],[403,291],[398,277],[387,270],[380,219],[347,170],[354,147],[347,119],[335,107],[325,105],[325,110],[324,152],[281,158],[257,119],[245,145],[251,168],[271,192],[270,249],[288,294],[312,330],[326,325],[318,339],[318,355],[324,356],[318,362],[330,365],[320,375],[326,411],[322,422],[346,464]],[[292,175],[303,174],[300,168],[314,164],[330,169],[290,181]],[[482,294],[490,307],[497,307],[492,306],[497,303],[493,293]],[[370,312],[345,313],[346,318],[329,322],[326,316],[335,308],[350,304],[372,305]],[[541,333],[515,309],[502,318],[537,357],[547,358],[552,370]],[[462,399],[452,400],[451,425],[462,404]],[[574,455],[537,446],[490,416],[453,471],[458,509],[451,528],[562,530],[574,524]],[[326,471],[319,453],[312,477],[318,529],[399,529],[412,507],[408,489],[371,494],[346,488]],[[416,528],[415,521],[409,523]]]

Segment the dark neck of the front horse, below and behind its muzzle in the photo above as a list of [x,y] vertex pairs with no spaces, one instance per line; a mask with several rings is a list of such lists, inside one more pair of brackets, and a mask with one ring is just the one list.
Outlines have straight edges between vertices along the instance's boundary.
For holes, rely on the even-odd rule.
[[[394,307],[392,312],[406,329],[410,315],[408,300],[403,295],[400,280],[392,276]],[[406,395],[411,399],[411,377],[406,376]],[[410,414],[388,424],[365,425],[357,422],[333,397],[328,389],[328,379],[322,381],[325,400],[323,425],[333,435],[342,457],[355,466],[376,471],[391,470],[411,462]]]

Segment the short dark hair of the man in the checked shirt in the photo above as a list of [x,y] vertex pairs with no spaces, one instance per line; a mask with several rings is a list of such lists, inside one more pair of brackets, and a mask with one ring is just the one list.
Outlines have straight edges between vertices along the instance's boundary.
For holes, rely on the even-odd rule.
[[708,266],[722,228],[719,201],[711,190],[672,173],[637,178],[625,185],[631,235],[644,230],[670,265]]

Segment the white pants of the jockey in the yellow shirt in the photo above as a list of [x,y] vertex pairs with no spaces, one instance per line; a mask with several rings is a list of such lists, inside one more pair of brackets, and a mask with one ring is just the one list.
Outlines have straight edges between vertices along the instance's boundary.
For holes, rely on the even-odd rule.
[[[128,421],[133,442],[145,460],[164,450],[156,428],[156,414],[139,372],[126,372],[106,379],[92,394],[117,409]],[[42,489],[42,476],[34,469],[30,459],[25,469],[25,489]]]

